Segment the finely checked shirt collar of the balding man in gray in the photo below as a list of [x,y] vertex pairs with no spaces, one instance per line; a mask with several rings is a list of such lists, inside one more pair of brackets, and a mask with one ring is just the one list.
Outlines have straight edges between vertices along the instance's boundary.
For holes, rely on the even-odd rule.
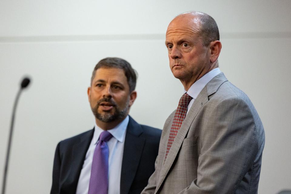
[[216,75],[221,73],[220,69],[217,67],[215,69],[212,69],[210,72],[203,75],[200,79],[198,79],[196,82],[194,82],[188,91],[184,89],[184,93],[187,92],[189,96],[191,96],[193,99],[196,99],[198,94],[201,92],[201,90],[206,86],[206,84],[214,78]]

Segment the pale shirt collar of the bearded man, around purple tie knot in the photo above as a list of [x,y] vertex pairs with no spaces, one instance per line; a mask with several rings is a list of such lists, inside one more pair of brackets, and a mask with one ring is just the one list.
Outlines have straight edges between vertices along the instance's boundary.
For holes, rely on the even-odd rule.
[[[125,139],[125,132],[126,132],[126,128],[129,122],[129,116],[127,115],[125,117],[125,119],[120,122],[118,125],[116,125],[113,129],[109,129],[107,130],[109,133],[111,133],[111,135],[117,139],[117,141],[119,142],[124,142]],[[93,134],[93,142],[94,144],[97,143],[97,141],[99,140],[99,136],[102,133],[102,131],[104,131],[103,129],[101,129],[95,122],[95,128],[94,128],[94,134]]]

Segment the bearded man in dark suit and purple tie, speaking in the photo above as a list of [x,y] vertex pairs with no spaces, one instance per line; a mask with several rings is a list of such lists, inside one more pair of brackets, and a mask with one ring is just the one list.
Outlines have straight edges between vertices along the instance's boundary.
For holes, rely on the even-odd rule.
[[136,74],[119,58],[105,58],[92,73],[88,99],[95,127],[59,142],[51,194],[140,193],[154,172],[161,130],[128,114]]

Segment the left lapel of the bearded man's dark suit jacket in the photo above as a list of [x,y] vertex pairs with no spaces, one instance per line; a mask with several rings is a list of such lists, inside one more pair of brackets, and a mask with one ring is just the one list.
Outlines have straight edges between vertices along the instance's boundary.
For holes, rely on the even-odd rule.
[[72,185],[75,185],[75,189],[77,188],[79,176],[82,170],[87,150],[93,137],[93,133],[94,129],[92,129],[82,138],[80,138],[80,141],[72,147],[72,164],[70,165],[71,169],[68,177],[72,180]]

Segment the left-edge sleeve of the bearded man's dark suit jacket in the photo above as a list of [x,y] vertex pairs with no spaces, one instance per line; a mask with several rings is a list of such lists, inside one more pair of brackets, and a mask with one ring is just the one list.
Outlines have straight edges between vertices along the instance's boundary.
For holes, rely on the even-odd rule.
[[50,194],[59,194],[59,177],[60,177],[60,168],[61,168],[61,159],[60,159],[60,143],[58,143],[57,148],[55,149],[55,159],[54,166],[52,170],[52,189]]

